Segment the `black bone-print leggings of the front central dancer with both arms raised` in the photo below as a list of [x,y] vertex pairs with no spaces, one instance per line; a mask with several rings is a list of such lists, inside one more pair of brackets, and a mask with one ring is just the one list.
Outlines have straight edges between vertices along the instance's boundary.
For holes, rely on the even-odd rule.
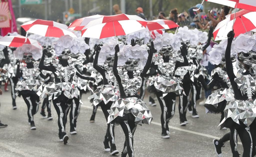
[[122,122],[119,122],[124,135],[125,135],[125,141],[124,141],[124,148],[123,148],[123,154],[127,154],[129,157],[134,157],[134,150],[133,150],[133,135],[136,130],[137,125],[134,123],[134,120],[125,120]]

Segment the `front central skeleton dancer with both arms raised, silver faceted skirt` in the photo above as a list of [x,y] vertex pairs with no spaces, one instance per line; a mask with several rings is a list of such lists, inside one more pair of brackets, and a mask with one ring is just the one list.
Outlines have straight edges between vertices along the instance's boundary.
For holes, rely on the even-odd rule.
[[[118,123],[124,131],[125,142],[122,156],[127,154],[134,156],[133,135],[137,124],[150,124],[152,121],[150,110],[137,93],[141,86],[141,78],[150,68],[155,52],[153,42],[151,45],[149,54],[145,48],[139,45],[125,45],[119,53],[119,57],[119,46],[115,47],[113,72],[118,82],[120,98],[110,108],[108,123]],[[124,68],[118,71],[118,64],[123,65]]]

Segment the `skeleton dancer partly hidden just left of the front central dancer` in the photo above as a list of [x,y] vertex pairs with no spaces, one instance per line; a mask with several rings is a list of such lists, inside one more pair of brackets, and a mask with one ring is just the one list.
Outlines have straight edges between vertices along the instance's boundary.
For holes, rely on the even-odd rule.
[[[102,75],[103,85],[98,86],[93,92],[93,105],[100,105],[106,121],[108,121],[110,107],[113,101],[116,101],[119,96],[119,89],[117,88],[116,79],[112,71],[115,52],[113,45],[108,43],[104,43],[101,48],[100,45],[98,45],[95,47],[95,50],[96,54],[93,61],[93,68]],[[88,99],[92,97],[89,97]],[[119,153],[119,151],[116,150],[114,135],[114,124],[107,124],[103,144],[104,151],[110,151],[111,155]]]

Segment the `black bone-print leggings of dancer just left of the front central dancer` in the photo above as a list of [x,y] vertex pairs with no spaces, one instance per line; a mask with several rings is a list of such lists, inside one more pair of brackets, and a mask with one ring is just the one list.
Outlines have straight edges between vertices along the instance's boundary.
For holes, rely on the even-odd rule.
[[[106,121],[108,122],[110,107],[112,105],[113,101],[108,102],[107,104],[104,103],[104,101],[100,102],[101,110],[105,116]],[[114,123],[107,124],[107,130],[105,135],[105,140],[109,140],[110,146],[112,144],[115,144],[115,132],[114,132]]]

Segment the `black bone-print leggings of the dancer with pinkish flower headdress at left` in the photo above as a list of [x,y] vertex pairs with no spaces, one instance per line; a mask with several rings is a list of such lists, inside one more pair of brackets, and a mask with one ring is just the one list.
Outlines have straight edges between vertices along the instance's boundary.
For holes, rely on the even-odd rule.
[[37,113],[40,103],[39,96],[32,91],[22,92],[21,95],[28,107],[28,122],[34,121],[34,115]]

